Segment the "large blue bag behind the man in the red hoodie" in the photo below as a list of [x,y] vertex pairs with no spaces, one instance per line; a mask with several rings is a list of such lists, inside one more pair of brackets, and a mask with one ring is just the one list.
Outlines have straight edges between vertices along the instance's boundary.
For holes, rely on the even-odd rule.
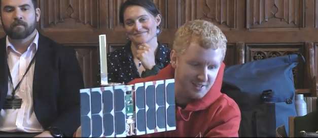
[[296,116],[292,69],[300,56],[268,58],[225,69],[222,93],[241,110],[240,136],[275,136],[282,125],[288,134],[288,117]]

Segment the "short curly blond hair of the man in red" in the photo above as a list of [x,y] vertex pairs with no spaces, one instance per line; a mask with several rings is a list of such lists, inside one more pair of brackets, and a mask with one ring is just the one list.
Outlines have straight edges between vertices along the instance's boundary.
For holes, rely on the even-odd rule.
[[205,49],[221,49],[223,59],[225,57],[227,39],[221,29],[211,22],[194,20],[185,23],[176,31],[172,49],[183,54],[191,42],[197,42]]

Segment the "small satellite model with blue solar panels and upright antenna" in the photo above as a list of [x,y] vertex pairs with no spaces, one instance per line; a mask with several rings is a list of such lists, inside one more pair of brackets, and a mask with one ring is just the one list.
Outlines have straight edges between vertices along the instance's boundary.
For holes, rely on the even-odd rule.
[[99,36],[101,86],[80,90],[83,137],[126,137],[176,129],[174,79],[108,83],[106,36]]

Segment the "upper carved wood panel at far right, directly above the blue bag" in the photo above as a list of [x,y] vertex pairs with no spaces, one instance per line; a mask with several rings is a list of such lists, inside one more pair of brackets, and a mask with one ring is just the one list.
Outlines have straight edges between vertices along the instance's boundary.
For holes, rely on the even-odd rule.
[[304,27],[303,0],[246,0],[246,28]]

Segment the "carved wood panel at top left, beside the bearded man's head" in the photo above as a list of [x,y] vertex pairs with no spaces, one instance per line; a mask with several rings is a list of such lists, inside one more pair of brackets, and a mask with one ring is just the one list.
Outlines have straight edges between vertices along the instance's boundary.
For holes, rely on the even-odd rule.
[[50,0],[40,1],[42,28],[98,28],[98,1]]

